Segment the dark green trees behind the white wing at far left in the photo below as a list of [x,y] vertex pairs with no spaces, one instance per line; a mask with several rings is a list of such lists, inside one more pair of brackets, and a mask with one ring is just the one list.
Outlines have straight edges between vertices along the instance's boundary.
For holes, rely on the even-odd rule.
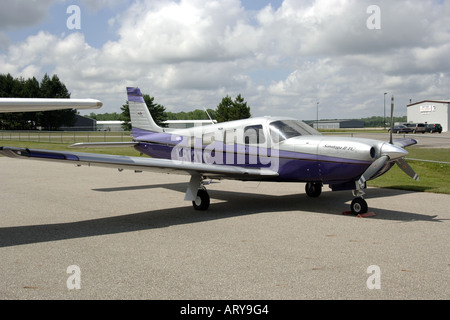
[[[39,82],[35,77],[14,78],[11,74],[0,74],[0,97],[2,98],[70,98],[70,92],[57,75],[45,74]],[[73,126],[75,109],[0,113],[2,130],[58,130],[61,126]]]

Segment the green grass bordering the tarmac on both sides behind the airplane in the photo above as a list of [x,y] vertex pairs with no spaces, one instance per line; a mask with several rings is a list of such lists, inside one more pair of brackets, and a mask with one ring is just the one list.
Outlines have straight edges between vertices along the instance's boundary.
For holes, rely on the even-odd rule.
[[[9,140],[0,140],[0,146],[139,156],[139,153],[131,147],[71,149],[68,148],[68,145],[61,143],[21,142]],[[444,162],[450,161],[450,149],[425,149],[409,147],[408,152],[409,155],[407,158]],[[408,163],[419,175],[419,181],[411,179],[403,171],[401,171],[398,166],[394,166],[383,176],[375,180],[368,181],[368,186],[450,194],[450,165],[413,160],[408,160]]]

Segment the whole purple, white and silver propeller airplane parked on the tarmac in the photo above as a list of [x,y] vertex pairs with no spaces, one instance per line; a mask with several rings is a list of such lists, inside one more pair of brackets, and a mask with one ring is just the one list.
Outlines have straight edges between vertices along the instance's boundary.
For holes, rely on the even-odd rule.
[[[153,120],[142,93],[127,87],[132,142],[77,143],[73,148],[132,146],[141,155],[132,157],[82,152],[0,147],[12,158],[56,161],[77,166],[99,166],[185,174],[190,176],[185,200],[196,210],[207,210],[206,186],[213,180],[302,182],[309,197],[319,197],[323,185],[332,191],[352,190],[353,214],[368,210],[366,181],[385,174],[397,164],[415,180],[406,163],[407,146],[414,139],[380,141],[354,137],[323,136],[294,118],[258,117],[201,127],[171,129]],[[394,98],[391,104],[391,123]]]

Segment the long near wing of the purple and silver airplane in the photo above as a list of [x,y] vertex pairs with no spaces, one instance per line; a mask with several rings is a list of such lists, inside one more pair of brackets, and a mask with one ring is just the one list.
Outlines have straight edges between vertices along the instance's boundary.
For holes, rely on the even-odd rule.
[[24,158],[78,166],[97,166],[137,171],[202,175],[211,179],[261,180],[278,176],[270,169],[253,169],[229,165],[214,165],[187,161],[105,155],[96,153],[51,151],[27,148],[0,147],[0,154],[10,158]]

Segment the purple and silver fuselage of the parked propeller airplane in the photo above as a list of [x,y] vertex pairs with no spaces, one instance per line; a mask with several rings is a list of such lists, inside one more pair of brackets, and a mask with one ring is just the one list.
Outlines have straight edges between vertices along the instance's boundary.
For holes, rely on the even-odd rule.
[[[359,179],[377,159],[379,140],[327,137],[292,118],[252,118],[188,129],[150,132],[133,128],[139,152],[153,158],[268,168],[271,180],[343,184]],[[398,151],[404,156],[406,151]],[[395,158],[396,155],[393,155]],[[389,170],[388,162],[380,170]]]

